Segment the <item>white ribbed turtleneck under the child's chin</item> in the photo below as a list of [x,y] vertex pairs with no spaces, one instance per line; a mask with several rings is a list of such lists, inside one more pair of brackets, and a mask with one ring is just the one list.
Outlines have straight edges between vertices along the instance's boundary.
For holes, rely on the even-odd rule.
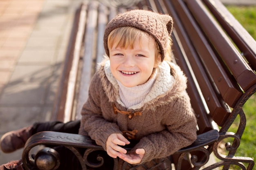
[[156,75],[157,75],[157,69],[145,84],[141,84],[139,86],[134,86],[134,87],[126,87],[123,84],[121,84],[119,81],[117,81],[119,85],[119,95],[120,95],[121,101],[124,103],[126,108],[139,104],[146,98],[146,96],[152,89],[152,86],[155,82]]

